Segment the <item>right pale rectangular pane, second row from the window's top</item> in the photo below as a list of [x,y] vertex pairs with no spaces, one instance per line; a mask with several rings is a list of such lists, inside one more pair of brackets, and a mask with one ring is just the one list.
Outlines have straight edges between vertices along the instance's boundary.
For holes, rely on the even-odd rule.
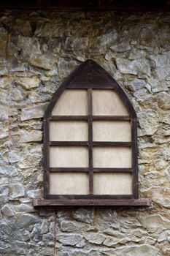
[[93,121],[94,141],[131,141],[130,121]]

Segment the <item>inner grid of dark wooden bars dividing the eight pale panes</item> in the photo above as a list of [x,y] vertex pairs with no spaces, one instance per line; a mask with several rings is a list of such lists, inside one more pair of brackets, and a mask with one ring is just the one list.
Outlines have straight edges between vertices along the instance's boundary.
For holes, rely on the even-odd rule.
[[[96,87],[94,89],[96,89]],[[90,88],[90,89],[88,88],[87,90],[88,90],[88,116],[50,116],[50,121],[83,121],[83,120],[88,121],[88,141],[50,141],[49,140],[49,146],[88,146],[88,167],[50,167],[50,173],[56,173],[56,172],[57,173],[60,173],[60,172],[88,173],[89,195],[93,195],[93,173],[132,173],[133,174],[132,166],[131,167],[101,167],[101,168],[93,167],[93,146],[132,146],[131,141],[129,142],[93,141],[93,121],[101,121],[101,120],[102,121],[131,121],[131,118],[129,116],[93,116],[93,106],[92,106],[93,88]],[[48,125],[50,125],[50,122]],[[133,159],[133,156],[132,156],[132,159]],[[59,195],[50,195],[50,197],[58,197],[58,196]],[[68,195],[68,197],[70,196],[72,195]],[[83,196],[83,195],[80,195],[80,196]],[[111,195],[111,196],[115,197],[115,195]],[[128,196],[128,195],[123,195],[123,197],[125,196]],[[129,197],[131,196],[132,195],[129,195]]]

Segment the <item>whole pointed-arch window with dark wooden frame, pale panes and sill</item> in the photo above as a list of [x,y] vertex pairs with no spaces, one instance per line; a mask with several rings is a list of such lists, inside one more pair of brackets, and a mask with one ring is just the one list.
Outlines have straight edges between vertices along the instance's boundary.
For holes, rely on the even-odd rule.
[[123,89],[94,61],[85,61],[45,112],[45,195],[34,205],[148,205],[139,200],[136,129]]

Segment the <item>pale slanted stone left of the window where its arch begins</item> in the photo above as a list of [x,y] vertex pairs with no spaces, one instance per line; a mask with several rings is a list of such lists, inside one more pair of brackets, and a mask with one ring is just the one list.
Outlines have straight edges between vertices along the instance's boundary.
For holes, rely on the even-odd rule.
[[35,105],[34,107],[23,108],[21,111],[21,120],[29,120],[33,118],[42,118],[47,108],[47,103]]

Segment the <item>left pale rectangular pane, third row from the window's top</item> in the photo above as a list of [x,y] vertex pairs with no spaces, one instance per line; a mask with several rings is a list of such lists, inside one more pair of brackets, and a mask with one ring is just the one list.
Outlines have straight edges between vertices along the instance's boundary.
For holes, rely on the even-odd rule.
[[88,147],[50,147],[50,167],[88,167]]

